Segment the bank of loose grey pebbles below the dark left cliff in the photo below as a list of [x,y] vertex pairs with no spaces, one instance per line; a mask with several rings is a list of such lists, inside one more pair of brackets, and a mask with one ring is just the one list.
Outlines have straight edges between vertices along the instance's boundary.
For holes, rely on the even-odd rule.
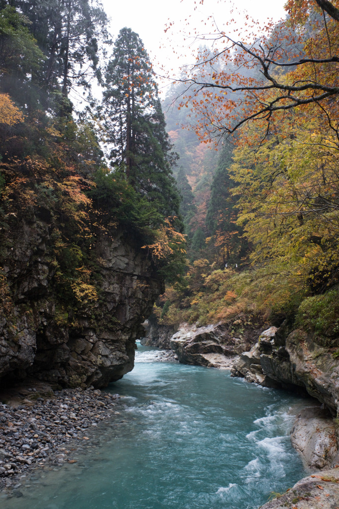
[[112,417],[119,398],[90,387],[55,391],[16,408],[0,403],[0,490],[13,489],[20,497],[16,486],[27,469],[75,463],[68,448],[74,451],[80,440],[88,440],[90,428]]

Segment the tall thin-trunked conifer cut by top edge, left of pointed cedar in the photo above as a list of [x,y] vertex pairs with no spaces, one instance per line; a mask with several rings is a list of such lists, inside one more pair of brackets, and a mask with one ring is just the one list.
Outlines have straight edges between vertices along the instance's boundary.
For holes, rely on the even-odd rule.
[[105,12],[97,0],[10,3],[29,20],[30,30],[45,55],[44,65],[34,80],[47,94],[40,98],[44,107],[67,115],[72,110],[70,89],[88,89],[94,75],[101,79],[99,41],[108,40]]

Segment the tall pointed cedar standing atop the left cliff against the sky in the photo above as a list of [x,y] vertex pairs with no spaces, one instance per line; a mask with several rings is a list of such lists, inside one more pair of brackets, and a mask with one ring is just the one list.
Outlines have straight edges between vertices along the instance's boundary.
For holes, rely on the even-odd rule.
[[103,99],[111,166],[165,216],[177,216],[179,195],[152,66],[138,34],[121,29],[106,68]]

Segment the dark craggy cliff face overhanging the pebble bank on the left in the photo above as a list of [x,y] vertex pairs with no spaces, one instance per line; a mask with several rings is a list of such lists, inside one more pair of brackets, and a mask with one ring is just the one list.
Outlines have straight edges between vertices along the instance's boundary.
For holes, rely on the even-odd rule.
[[135,236],[116,228],[110,235],[92,229],[78,272],[64,277],[77,246],[56,250],[67,228],[59,219],[41,207],[9,218],[0,274],[2,385],[26,377],[62,386],[118,380],[132,370],[140,324],[163,290]]

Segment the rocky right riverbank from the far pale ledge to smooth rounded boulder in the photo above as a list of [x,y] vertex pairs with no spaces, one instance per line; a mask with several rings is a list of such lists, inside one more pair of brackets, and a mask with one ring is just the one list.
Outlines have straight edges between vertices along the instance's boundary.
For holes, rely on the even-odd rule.
[[[163,332],[167,337],[170,330],[167,327]],[[301,331],[291,333],[284,325],[262,330],[259,324],[243,332],[241,337],[235,337],[232,332],[234,328],[230,324],[205,327],[182,324],[171,336],[169,346],[181,363],[229,369],[232,376],[244,377],[248,382],[316,398],[314,406],[302,410],[296,417],[291,432],[292,445],[309,468],[320,470],[337,466],[339,430],[333,414],[339,399],[338,359],[317,346],[312,337]],[[156,337],[151,339],[154,345]]]

